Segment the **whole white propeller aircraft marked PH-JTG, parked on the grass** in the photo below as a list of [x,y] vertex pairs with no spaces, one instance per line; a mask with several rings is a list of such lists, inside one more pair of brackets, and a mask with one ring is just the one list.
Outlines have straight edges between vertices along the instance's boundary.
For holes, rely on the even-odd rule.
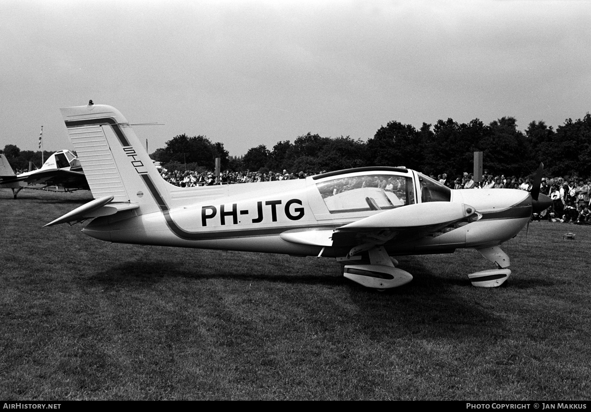
[[452,190],[394,167],[180,188],[161,178],[114,107],[61,113],[95,200],[46,226],[93,219],[83,233],[109,242],[332,257],[345,277],[380,290],[413,279],[391,256],[475,248],[496,269],[469,278],[492,287],[511,274],[499,245],[519,233],[532,209],[550,204],[539,189]]

